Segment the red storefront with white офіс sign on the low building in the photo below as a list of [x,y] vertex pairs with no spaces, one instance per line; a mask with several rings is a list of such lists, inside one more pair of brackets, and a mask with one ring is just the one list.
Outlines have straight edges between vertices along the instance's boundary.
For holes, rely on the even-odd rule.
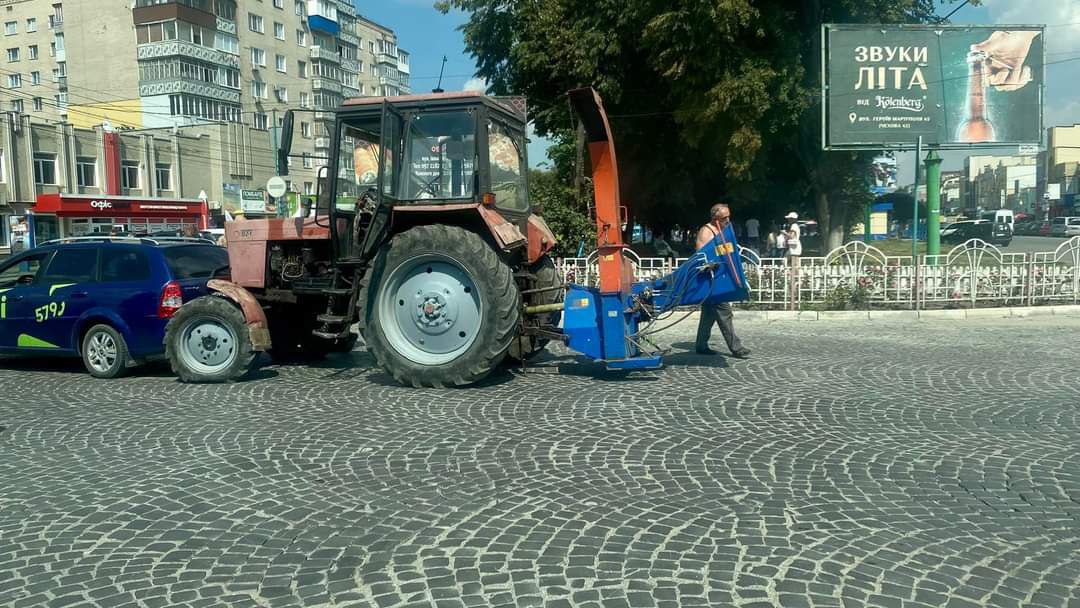
[[48,238],[113,232],[153,235],[185,226],[202,229],[206,227],[207,211],[198,199],[39,194],[32,213],[36,242],[41,243]]

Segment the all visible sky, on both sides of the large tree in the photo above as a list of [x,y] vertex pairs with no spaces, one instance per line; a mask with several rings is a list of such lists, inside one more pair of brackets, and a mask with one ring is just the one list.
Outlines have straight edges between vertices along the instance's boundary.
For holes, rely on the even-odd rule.
[[[443,15],[434,0],[356,0],[360,13],[397,32],[399,44],[411,53],[413,92],[435,87],[445,55],[446,91],[481,90],[475,62],[464,50],[458,26],[465,22],[461,12]],[[956,4],[954,3],[953,6]],[[944,5],[941,14],[951,8]],[[983,0],[980,6],[964,6],[951,18],[956,24],[1045,24],[1047,25],[1047,126],[1080,123],[1080,0]],[[1070,60],[1076,57],[1077,60]],[[1053,62],[1063,62],[1050,65]],[[546,159],[548,141],[532,136],[530,164]],[[899,181],[914,180],[914,153],[897,154]],[[967,152],[944,152],[945,171],[963,167]]]

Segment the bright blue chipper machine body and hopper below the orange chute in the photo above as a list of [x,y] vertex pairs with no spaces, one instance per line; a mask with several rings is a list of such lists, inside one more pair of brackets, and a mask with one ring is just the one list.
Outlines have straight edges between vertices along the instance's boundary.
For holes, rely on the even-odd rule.
[[[629,264],[629,261],[627,261]],[[742,301],[750,297],[731,226],[662,279],[605,293],[569,285],[563,314],[567,346],[610,369],[654,369],[663,353],[649,336],[678,307]]]

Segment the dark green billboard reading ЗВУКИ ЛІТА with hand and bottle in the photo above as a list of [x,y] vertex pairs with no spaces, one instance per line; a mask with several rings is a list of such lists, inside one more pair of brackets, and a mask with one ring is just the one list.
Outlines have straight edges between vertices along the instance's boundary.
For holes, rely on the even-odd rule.
[[1042,141],[1042,26],[825,25],[828,149]]

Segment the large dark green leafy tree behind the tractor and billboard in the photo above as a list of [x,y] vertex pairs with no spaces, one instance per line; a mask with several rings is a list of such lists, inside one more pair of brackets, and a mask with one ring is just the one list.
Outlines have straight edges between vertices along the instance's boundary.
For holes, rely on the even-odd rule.
[[[954,1],[954,0],[945,0]],[[725,200],[762,218],[812,208],[827,244],[861,215],[865,153],[823,152],[822,23],[935,21],[935,0],[442,0],[477,76],[524,94],[537,132],[573,159],[566,91],[604,96],[622,198],[651,226]],[[570,146],[567,148],[567,146]],[[566,153],[571,152],[571,153]],[[564,178],[572,170],[557,170]],[[782,200],[778,200],[778,194]]]

